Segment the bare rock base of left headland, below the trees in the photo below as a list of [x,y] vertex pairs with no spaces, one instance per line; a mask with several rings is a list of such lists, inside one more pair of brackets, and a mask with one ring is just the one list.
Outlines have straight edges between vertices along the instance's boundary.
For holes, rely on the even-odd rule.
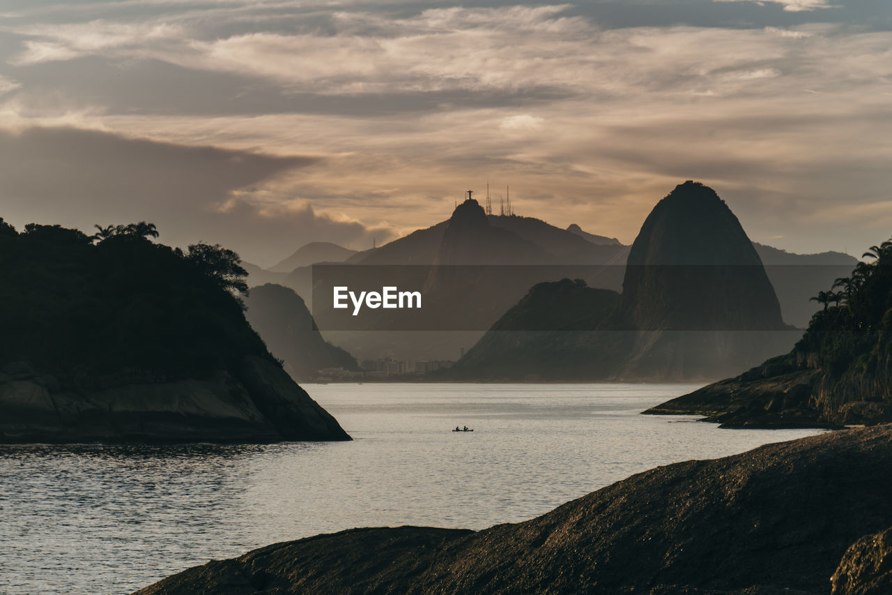
[[350,440],[260,357],[195,378],[118,373],[89,388],[70,380],[22,363],[0,367],[0,443]]

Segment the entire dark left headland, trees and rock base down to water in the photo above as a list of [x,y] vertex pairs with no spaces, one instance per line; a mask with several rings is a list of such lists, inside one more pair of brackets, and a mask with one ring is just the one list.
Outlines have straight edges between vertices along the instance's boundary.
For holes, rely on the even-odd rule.
[[0,442],[350,440],[244,319],[238,256],[0,220]]

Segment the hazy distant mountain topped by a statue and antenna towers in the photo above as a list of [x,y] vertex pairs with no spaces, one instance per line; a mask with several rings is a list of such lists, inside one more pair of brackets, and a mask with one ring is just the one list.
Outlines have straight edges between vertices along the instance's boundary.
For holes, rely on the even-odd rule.
[[342,279],[340,271],[317,271],[314,279],[308,269],[297,269],[286,283],[301,295],[315,287],[325,296],[321,309],[313,304],[318,326],[326,338],[353,354],[407,359],[425,354],[451,360],[535,283],[578,277],[618,289],[625,249],[596,246],[533,217],[487,215],[470,199],[447,221],[351,256],[345,264],[356,268],[343,274],[352,279],[336,283],[423,289],[421,312],[378,310],[353,317],[343,310],[326,311],[333,285],[326,276]]

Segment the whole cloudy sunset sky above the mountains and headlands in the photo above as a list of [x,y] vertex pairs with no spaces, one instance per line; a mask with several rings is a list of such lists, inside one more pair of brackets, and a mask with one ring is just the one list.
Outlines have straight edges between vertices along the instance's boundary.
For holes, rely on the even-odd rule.
[[684,180],[794,252],[892,234],[888,0],[0,1],[0,217],[275,264],[495,210],[631,243]]

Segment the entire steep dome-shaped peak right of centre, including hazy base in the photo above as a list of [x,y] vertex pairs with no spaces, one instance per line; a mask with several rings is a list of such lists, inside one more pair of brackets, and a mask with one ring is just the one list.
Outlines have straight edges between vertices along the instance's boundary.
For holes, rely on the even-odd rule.
[[693,181],[657,203],[641,226],[626,265],[623,313],[640,331],[624,378],[721,377],[798,338],[737,217]]

